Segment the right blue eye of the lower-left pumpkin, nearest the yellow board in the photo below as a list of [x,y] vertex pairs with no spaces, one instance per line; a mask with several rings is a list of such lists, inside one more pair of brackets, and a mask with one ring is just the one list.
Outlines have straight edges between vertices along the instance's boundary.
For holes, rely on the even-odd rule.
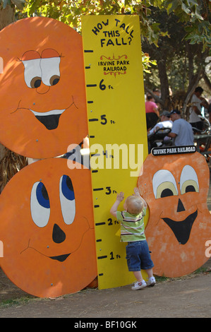
[[61,212],[66,225],[71,225],[76,215],[76,201],[71,178],[63,175],[59,181]]

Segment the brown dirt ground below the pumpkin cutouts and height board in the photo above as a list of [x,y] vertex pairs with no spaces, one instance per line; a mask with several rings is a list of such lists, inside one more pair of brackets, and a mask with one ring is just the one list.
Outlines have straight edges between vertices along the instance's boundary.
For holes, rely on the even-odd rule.
[[[211,213],[211,186],[207,198]],[[13,285],[0,268],[0,318],[210,318],[211,259],[198,273],[158,280],[155,287],[133,291],[131,285],[86,289],[56,299],[32,297]],[[74,321],[74,320],[73,320]]]

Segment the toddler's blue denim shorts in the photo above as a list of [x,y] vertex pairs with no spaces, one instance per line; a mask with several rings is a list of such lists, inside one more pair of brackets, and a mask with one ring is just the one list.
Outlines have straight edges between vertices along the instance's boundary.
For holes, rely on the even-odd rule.
[[146,240],[128,242],[126,259],[129,271],[148,270],[154,266]]

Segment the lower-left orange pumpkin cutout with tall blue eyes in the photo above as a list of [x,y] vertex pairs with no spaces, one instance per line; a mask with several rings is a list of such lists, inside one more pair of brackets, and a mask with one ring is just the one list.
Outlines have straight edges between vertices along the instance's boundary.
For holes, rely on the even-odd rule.
[[2,191],[0,265],[25,292],[58,297],[96,278],[90,181],[90,170],[56,158],[28,165]]

